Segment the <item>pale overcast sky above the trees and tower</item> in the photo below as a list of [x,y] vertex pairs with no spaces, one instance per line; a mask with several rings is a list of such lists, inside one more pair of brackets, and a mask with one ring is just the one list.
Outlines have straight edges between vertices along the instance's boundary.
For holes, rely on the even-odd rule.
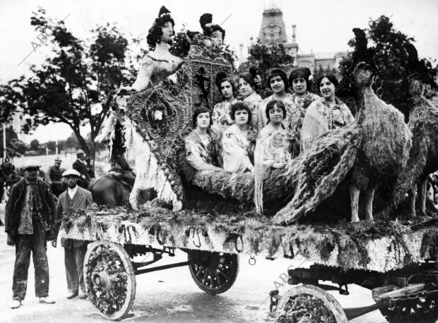
[[[202,13],[212,13],[213,23],[221,23],[231,14],[223,23],[225,42],[231,44],[237,54],[239,44],[244,44],[246,55],[249,37],[259,35],[265,2],[274,2],[283,10],[289,37],[292,24],[297,25],[300,53],[346,51],[349,49],[347,42],[353,37],[353,28],[366,28],[369,18],[385,14],[391,16],[397,30],[415,38],[420,57],[432,61],[438,59],[437,0],[0,0],[0,82],[6,83],[25,74],[30,63],[44,61],[44,51],[30,54],[31,42],[38,35],[30,25],[30,16],[38,6],[45,8],[52,18],[61,20],[68,16],[66,27],[82,39],[89,36],[90,29],[107,22],[118,23],[124,32],[134,37],[147,35],[162,5],[172,11],[175,30],[184,24],[189,30],[200,31],[199,16]],[[28,54],[28,58],[17,66]],[[34,135],[40,142],[45,142],[53,139],[53,133],[62,139],[71,130],[63,125],[49,126],[38,129]]]

